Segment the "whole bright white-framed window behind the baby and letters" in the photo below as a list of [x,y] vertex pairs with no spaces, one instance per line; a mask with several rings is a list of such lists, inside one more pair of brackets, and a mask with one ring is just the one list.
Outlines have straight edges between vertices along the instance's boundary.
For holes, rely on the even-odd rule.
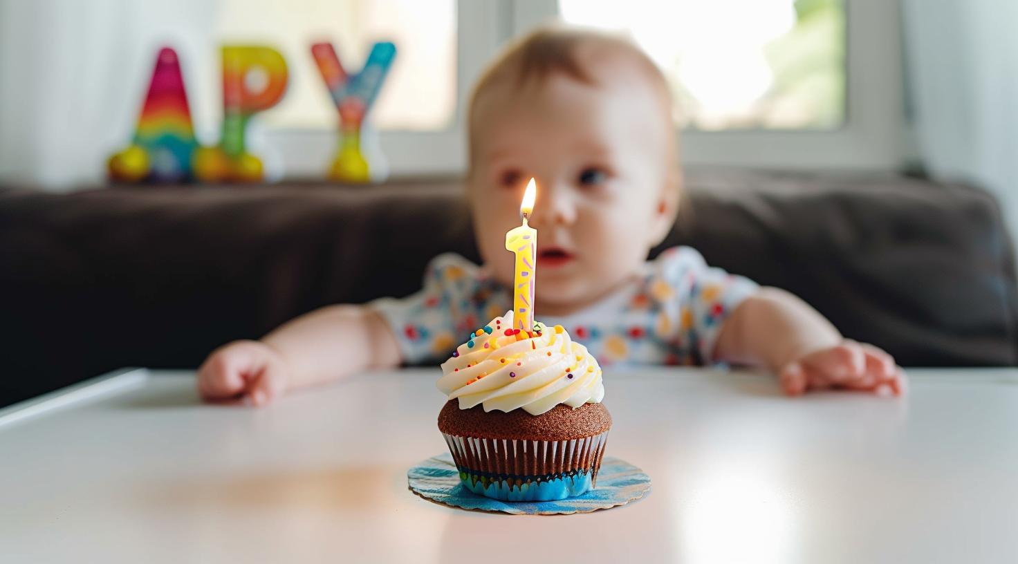
[[473,81],[511,37],[556,17],[628,31],[662,66],[687,164],[886,170],[902,160],[899,13],[887,0],[221,0],[215,21],[218,41],[283,52],[290,89],[257,120],[252,147],[287,176],[321,178],[336,112],[313,42],[332,41],[355,70],[372,42],[394,40],[365,147],[379,149],[382,174],[458,174]]

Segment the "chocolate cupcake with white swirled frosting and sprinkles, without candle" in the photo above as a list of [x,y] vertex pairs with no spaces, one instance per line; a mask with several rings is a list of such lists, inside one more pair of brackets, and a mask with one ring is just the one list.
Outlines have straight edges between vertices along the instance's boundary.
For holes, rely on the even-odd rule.
[[496,318],[442,364],[439,431],[463,486],[505,501],[551,501],[597,485],[612,417],[601,366],[562,326]]

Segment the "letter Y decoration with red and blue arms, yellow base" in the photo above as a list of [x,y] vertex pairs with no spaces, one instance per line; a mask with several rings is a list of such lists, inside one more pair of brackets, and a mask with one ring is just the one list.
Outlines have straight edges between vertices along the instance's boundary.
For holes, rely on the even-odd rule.
[[339,151],[329,177],[342,182],[367,182],[367,160],[360,153],[360,126],[385,81],[396,57],[396,46],[376,43],[360,72],[349,75],[336,56],[331,43],[316,43],[312,55],[339,110]]

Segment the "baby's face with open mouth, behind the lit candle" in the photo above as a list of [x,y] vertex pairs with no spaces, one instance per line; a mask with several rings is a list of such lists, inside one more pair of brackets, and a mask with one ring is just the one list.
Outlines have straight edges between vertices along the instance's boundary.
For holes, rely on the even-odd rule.
[[[538,199],[536,313],[564,315],[625,284],[671,228],[669,116],[645,76],[618,63],[587,84],[553,74],[477,102],[469,194],[480,255],[513,282],[505,233],[520,224],[530,177]],[[504,89],[507,90],[507,89]]]

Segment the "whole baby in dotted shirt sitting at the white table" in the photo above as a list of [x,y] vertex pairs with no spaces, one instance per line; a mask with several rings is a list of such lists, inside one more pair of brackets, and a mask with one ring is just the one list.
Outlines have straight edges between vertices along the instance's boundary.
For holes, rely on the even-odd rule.
[[262,405],[287,390],[370,369],[443,359],[512,308],[527,180],[538,183],[535,312],[603,363],[764,365],[789,395],[841,388],[902,394],[875,346],[841,336],[794,295],[708,267],[689,247],[646,262],[676,220],[682,176],[667,82],[631,43],[548,29],[512,45],[469,104],[467,196],[483,266],[443,255],[402,299],[331,305],[261,341],[214,351],[203,397]]

